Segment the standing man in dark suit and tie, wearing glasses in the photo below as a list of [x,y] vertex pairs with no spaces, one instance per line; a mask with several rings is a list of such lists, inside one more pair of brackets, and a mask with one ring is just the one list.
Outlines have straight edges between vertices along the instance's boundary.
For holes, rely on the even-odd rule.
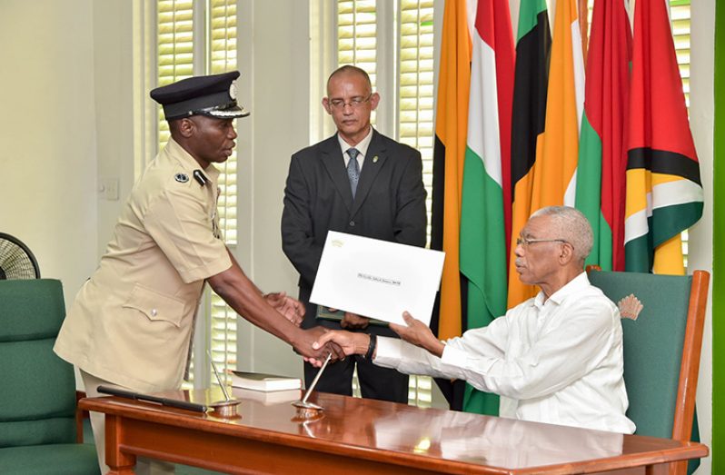
[[[340,67],[327,80],[323,98],[337,134],[293,154],[284,189],[282,242],[284,253],[300,272],[300,300],[306,305],[303,328],[320,324],[396,336],[387,326],[370,324],[368,318],[350,312],[344,312],[340,322],[318,319],[317,305],[309,302],[328,231],[425,245],[421,153],[372,128],[370,114],[379,101],[363,69]],[[317,390],[352,395],[355,366],[363,397],[408,401],[408,376],[360,356],[328,367]],[[305,362],[308,387],[315,373]]]

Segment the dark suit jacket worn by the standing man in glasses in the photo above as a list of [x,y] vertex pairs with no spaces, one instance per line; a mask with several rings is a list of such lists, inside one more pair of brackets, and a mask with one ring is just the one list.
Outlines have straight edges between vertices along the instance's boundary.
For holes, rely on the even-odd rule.
[[[309,298],[327,232],[424,246],[425,194],[421,153],[375,130],[354,201],[337,135],[293,154],[284,189],[282,245],[300,272],[305,327],[316,324],[316,306]],[[394,334],[375,325],[365,332]]]

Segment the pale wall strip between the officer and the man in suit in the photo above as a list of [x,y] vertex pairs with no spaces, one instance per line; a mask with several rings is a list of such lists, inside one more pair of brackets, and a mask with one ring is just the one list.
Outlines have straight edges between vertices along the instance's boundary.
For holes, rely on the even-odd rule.
[[[240,219],[237,260],[265,292],[297,295],[297,273],[282,252],[280,219],[290,156],[309,144],[309,2],[255,0],[240,9],[240,100],[252,111],[237,121]],[[316,104],[313,104],[313,106]],[[243,370],[302,376],[289,345],[243,322]]]

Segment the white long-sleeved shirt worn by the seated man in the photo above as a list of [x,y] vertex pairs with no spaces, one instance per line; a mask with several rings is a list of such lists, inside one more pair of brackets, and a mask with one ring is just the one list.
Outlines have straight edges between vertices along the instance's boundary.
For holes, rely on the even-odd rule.
[[442,358],[378,337],[375,364],[457,378],[495,392],[502,417],[632,433],[625,415],[620,312],[581,272],[544,302],[543,292],[487,327],[445,341]]

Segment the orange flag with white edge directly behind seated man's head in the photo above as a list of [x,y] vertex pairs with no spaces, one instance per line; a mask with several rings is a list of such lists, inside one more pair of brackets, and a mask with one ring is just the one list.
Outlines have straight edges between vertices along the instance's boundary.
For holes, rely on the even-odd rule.
[[[535,2],[522,3],[521,8],[524,9],[527,3]],[[543,134],[536,143],[535,161],[526,176],[519,180],[522,183],[517,182],[514,188],[511,250],[514,249],[513,240],[521,233],[531,213],[544,206],[574,205],[584,103],[584,58],[576,0],[558,0],[556,3],[546,95],[546,117]],[[519,111],[514,108],[513,114],[515,116]],[[515,178],[518,175],[511,179]],[[531,187],[530,193],[523,190],[528,187]],[[513,307],[534,296],[536,289],[521,284],[513,256],[509,269],[508,303]]]

